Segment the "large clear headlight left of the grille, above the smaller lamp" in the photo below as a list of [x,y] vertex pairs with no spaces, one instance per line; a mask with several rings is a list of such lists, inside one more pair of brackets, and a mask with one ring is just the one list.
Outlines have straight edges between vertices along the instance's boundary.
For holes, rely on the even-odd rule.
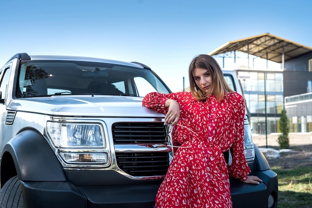
[[56,147],[105,147],[103,130],[98,123],[48,121],[47,133]]

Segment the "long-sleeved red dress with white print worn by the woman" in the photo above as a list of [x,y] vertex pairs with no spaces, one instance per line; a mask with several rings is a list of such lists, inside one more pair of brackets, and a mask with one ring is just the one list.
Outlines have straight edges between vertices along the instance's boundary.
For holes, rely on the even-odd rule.
[[[167,113],[173,99],[180,118],[172,129],[174,145],[180,147],[161,183],[156,208],[232,208],[229,175],[242,179],[250,173],[244,156],[244,99],[229,93],[218,102],[215,96],[196,101],[190,92],[150,93],[143,104]],[[222,152],[231,149],[228,167]]]

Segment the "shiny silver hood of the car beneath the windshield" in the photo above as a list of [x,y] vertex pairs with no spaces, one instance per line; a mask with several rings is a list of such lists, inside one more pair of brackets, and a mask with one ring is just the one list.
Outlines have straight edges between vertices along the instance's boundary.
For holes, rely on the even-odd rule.
[[10,110],[59,116],[163,117],[142,105],[143,98],[127,96],[51,96],[16,99]]

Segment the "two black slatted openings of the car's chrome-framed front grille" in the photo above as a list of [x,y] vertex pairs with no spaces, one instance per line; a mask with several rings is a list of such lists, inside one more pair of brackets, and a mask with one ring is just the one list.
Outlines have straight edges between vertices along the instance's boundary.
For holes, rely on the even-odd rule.
[[[163,122],[118,122],[112,126],[114,144],[164,144]],[[134,177],[164,176],[169,165],[168,152],[116,152],[118,167]]]

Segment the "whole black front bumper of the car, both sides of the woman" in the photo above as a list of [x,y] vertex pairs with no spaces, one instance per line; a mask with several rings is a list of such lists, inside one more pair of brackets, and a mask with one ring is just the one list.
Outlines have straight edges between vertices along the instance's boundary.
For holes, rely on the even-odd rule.
[[[68,171],[70,182],[21,181],[28,208],[152,208],[160,180],[130,180],[116,172]],[[277,199],[277,175],[272,170],[254,172],[259,185],[231,179],[234,208],[268,208],[268,197]]]

